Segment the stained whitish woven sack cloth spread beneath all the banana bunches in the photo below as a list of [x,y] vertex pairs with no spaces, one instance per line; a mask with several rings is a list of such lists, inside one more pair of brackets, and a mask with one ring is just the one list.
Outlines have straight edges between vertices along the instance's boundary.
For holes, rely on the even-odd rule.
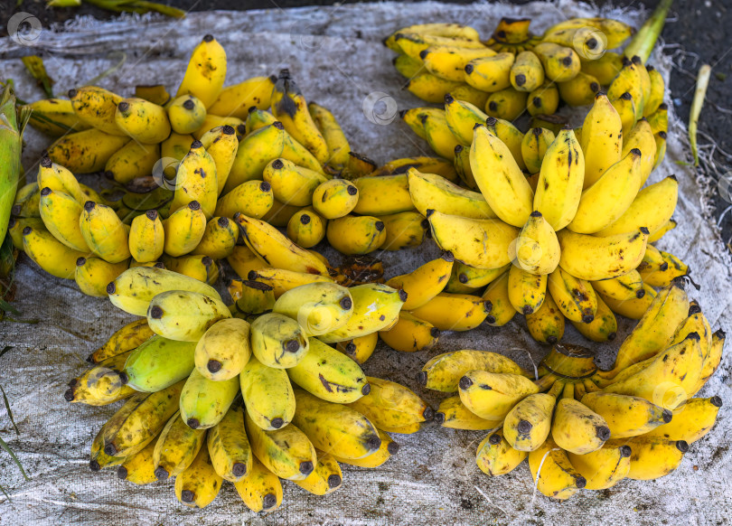
[[[534,33],[572,16],[610,16],[640,26],[648,15],[638,9],[604,9],[558,1],[528,5],[444,5],[386,2],[249,12],[188,14],[183,20],[122,16],[100,23],[81,18],[58,28],[32,33],[19,45],[0,40],[0,78],[14,79],[23,99],[42,97],[23,69],[23,54],[41,52],[56,81],[56,93],[88,84],[100,72],[125,61],[93,83],[131,96],[137,84],[163,83],[177,89],[193,47],[206,33],[221,42],[228,56],[227,84],[289,68],[308,100],[332,108],[352,150],[378,163],[409,155],[434,155],[427,143],[399,120],[398,109],[424,106],[401,87],[394,53],[381,40],[413,23],[435,21],[474,26],[487,38],[503,16],[529,17]],[[660,54],[651,61],[668,79],[670,63]],[[668,94],[667,94],[668,95]],[[667,100],[669,98],[667,97]],[[670,108],[672,112],[672,107]],[[583,108],[587,111],[587,108]],[[577,120],[577,118],[579,120]],[[713,329],[730,327],[732,280],[727,251],[709,221],[706,184],[677,161],[689,159],[686,129],[671,117],[666,160],[651,183],[677,174],[679,226],[658,246],[690,264],[700,289],[699,300]],[[573,124],[578,126],[581,117]],[[525,128],[525,127],[524,127]],[[47,137],[30,130],[23,165],[33,180]],[[83,176],[95,184],[97,176]],[[418,267],[438,250],[427,240],[418,249],[380,252],[387,277]],[[339,257],[333,253],[333,262]],[[14,306],[38,324],[0,324],[0,346],[11,346],[0,358],[0,385],[5,389],[20,436],[15,436],[0,407],[0,437],[17,454],[30,480],[24,480],[10,456],[0,452],[0,524],[656,524],[725,523],[732,508],[728,489],[732,454],[732,418],[727,407],[707,437],[690,447],[679,469],[655,482],[624,480],[601,492],[580,491],[567,503],[535,493],[529,468],[489,477],[475,465],[475,450],[484,432],[456,431],[428,423],[414,435],[395,435],[401,448],[378,469],[343,466],[343,486],[324,496],[284,484],[285,498],[275,512],[258,515],[246,508],[231,484],[225,484],[210,506],[192,510],[174,496],[173,481],[136,486],[117,479],[114,470],[89,471],[89,446],[115,407],[94,408],[63,399],[66,384],[88,367],[89,352],[131,317],[107,299],[84,296],[73,281],[44,273],[28,258],[17,268]],[[588,343],[568,326],[566,341],[591,347],[609,367],[622,338],[633,326],[621,320],[614,343]],[[399,353],[380,343],[364,371],[399,381],[437,407],[444,395],[424,390],[415,377],[439,352],[457,349],[502,352],[522,366],[540,362],[547,347],[535,343],[523,317],[506,326],[486,325],[468,333],[444,333],[429,352]],[[730,362],[699,396],[732,400]]]

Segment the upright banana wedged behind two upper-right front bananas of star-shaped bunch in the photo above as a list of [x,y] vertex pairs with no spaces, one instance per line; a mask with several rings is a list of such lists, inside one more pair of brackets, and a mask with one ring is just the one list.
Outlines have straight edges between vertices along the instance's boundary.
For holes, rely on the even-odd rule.
[[579,141],[585,156],[584,188],[600,179],[605,170],[621,159],[623,123],[605,93],[598,93],[585,117]]

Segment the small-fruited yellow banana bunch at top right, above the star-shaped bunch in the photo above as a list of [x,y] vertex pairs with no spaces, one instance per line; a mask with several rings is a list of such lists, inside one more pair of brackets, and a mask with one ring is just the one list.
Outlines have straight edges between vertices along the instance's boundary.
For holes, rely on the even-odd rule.
[[[608,50],[633,34],[629,25],[606,18],[572,18],[541,37],[530,33],[529,24],[504,18],[481,42],[472,27],[426,23],[405,27],[384,43],[399,53],[394,65],[419,99],[440,103],[451,94],[491,117],[513,120],[528,111],[540,122],[557,111],[560,99],[569,106],[592,104],[623,69],[622,55]],[[653,77],[662,94],[661,75]]]

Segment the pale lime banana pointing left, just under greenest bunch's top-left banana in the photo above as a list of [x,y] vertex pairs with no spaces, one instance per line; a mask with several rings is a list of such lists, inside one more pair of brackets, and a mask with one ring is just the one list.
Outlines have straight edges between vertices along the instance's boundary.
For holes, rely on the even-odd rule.
[[147,324],[153,332],[181,342],[197,342],[212,324],[230,317],[221,300],[187,290],[158,294],[147,307]]

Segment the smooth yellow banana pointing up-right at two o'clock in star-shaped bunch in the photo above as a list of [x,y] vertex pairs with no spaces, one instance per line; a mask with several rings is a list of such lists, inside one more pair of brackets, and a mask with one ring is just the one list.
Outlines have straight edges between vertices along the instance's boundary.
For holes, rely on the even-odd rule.
[[[609,166],[596,183],[582,193],[577,213],[567,228],[578,234],[594,234],[620,219],[643,184],[641,157],[641,150],[633,148],[620,161]],[[614,233],[634,232],[641,227],[646,225]]]

